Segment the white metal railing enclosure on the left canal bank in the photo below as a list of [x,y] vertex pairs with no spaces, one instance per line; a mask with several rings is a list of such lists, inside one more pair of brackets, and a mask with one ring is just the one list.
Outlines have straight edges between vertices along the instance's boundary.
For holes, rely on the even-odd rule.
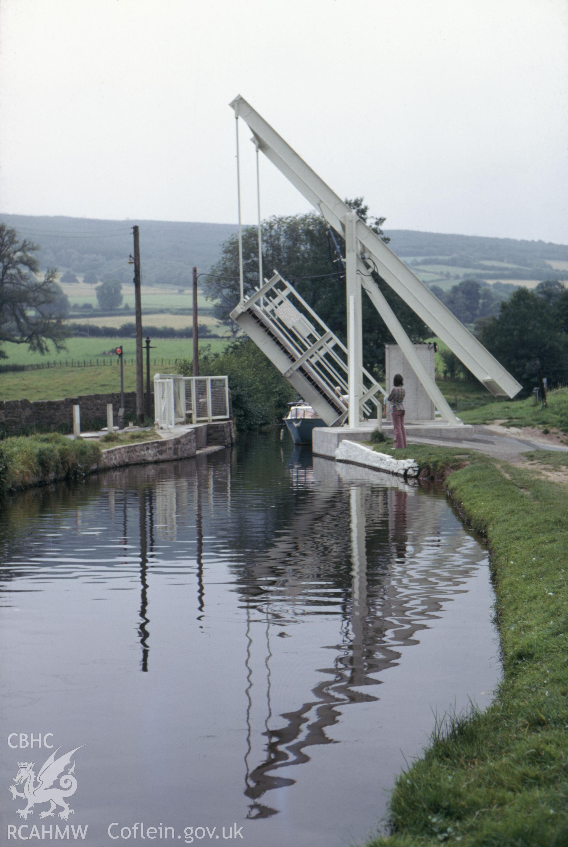
[[205,424],[227,420],[229,410],[229,378],[226,376],[154,376],[154,412],[160,429],[173,429],[175,424]]

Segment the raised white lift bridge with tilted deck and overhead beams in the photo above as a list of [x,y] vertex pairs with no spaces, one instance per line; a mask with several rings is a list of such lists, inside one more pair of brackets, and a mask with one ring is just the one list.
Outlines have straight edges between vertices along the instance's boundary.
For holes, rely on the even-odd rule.
[[[441,417],[448,424],[459,423],[373,275],[400,295],[494,396],[515,396],[521,390],[516,379],[261,115],[243,97],[235,97],[230,105],[236,119],[240,256],[240,303],[234,308],[231,318],[267,354],[328,426],[343,424],[347,418],[350,428],[357,427],[361,418],[374,417],[372,407],[376,407],[382,399],[380,395],[386,393],[363,368],[363,291],[383,318]],[[240,225],[239,119],[244,120],[252,131],[257,157],[259,152],[264,153],[345,239],[346,347],[277,271],[270,280],[263,278],[260,202],[259,284],[254,294],[245,299]],[[325,282],[322,284],[325,285]],[[348,408],[334,392],[338,385],[340,393],[345,391],[349,398]]]

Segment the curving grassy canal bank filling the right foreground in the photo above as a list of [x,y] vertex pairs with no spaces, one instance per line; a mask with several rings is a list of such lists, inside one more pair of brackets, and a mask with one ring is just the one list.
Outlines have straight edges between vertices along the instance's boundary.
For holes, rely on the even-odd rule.
[[372,845],[560,847],[568,835],[568,492],[479,453],[415,445],[395,455],[448,473],[460,511],[487,537],[505,676],[487,711],[450,717],[400,775],[390,835]]

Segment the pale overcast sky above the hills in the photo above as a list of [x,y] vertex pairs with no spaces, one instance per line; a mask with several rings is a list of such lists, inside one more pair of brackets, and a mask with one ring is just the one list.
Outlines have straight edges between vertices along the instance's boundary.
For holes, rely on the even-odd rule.
[[567,45],[566,0],[2,0],[0,211],[236,222],[241,94],[387,229],[568,243]]

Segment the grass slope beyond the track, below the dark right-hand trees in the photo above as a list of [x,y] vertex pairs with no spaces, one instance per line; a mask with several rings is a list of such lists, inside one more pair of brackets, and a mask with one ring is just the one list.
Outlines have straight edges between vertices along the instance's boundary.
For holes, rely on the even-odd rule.
[[464,424],[490,424],[494,420],[503,420],[505,426],[536,426],[568,433],[568,388],[549,391],[548,401],[546,409],[542,409],[540,404],[533,405],[532,397],[487,403],[460,413],[460,418]]

